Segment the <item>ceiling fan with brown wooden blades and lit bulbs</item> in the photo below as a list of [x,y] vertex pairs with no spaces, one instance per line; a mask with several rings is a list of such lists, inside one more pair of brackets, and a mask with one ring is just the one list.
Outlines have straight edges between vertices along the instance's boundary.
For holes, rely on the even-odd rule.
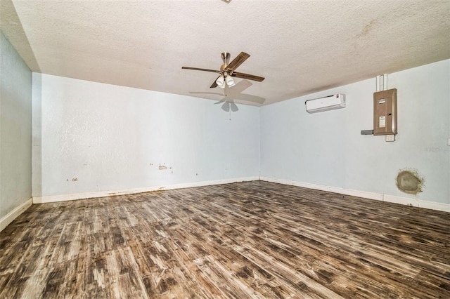
[[211,88],[214,87],[221,87],[225,88],[225,86],[233,86],[234,80],[233,77],[241,78],[241,79],[249,79],[253,81],[261,82],[264,80],[264,77],[255,76],[252,74],[245,74],[240,72],[235,72],[235,70],[238,68],[239,65],[242,65],[242,63],[247,60],[247,58],[250,57],[250,54],[245,52],[240,52],[239,55],[236,56],[231,62],[230,61],[230,53],[224,52],[221,53],[221,58],[224,61],[224,64],[220,66],[220,70],[215,69],[200,69],[198,67],[181,67],[182,69],[194,69],[197,71],[204,71],[204,72],[214,72],[219,74],[219,77],[212,83],[210,86]]

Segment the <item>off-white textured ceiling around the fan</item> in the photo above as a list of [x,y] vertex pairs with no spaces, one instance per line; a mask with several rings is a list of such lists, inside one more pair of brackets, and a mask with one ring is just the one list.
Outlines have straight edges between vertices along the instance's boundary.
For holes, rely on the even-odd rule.
[[[0,0],[34,72],[220,100],[221,52],[251,55],[228,100],[267,105],[450,58],[449,0]],[[234,88],[234,89],[233,89]],[[374,83],[375,88],[375,83]]]

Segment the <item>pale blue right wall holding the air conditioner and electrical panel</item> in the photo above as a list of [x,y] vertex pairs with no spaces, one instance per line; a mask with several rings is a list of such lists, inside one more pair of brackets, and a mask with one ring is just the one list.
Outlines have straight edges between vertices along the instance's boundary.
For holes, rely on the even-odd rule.
[[[450,60],[389,74],[387,84],[398,93],[395,142],[360,135],[373,128],[375,78],[262,107],[261,176],[450,204]],[[305,111],[305,100],[333,93],[347,95],[345,109]],[[418,170],[423,192],[397,189],[402,168]]]

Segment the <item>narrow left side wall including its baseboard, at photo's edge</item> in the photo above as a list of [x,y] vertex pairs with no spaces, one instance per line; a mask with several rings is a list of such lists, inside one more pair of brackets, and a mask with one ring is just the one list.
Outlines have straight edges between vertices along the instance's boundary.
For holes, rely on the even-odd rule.
[[31,93],[32,72],[0,32],[0,230],[31,198]]

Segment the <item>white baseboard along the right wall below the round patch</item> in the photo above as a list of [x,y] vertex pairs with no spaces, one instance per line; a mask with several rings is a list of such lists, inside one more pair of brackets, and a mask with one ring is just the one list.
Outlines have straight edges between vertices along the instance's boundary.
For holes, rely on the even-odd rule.
[[359,190],[349,190],[349,189],[344,189],[344,188],[340,188],[340,187],[316,185],[316,184],[311,184],[309,182],[298,182],[295,180],[283,180],[283,179],[268,178],[268,177],[261,177],[260,180],[265,180],[266,182],[278,182],[278,183],[284,184],[284,185],[293,185],[293,186],[304,187],[304,188],[309,188],[309,189],[314,189],[314,190],[335,192],[335,193],[339,193],[339,194],[351,195],[354,197],[364,197],[366,199],[376,199],[376,200],[380,200],[380,201],[392,202],[395,204],[404,204],[406,206],[416,206],[416,207],[420,207],[420,208],[430,208],[432,210],[450,212],[450,204],[442,204],[442,203],[435,202],[435,201],[426,201],[423,199],[412,199],[409,197],[397,197],[394,195],[383,194],[383,193],[366,192],[366,191],[359,191]]

